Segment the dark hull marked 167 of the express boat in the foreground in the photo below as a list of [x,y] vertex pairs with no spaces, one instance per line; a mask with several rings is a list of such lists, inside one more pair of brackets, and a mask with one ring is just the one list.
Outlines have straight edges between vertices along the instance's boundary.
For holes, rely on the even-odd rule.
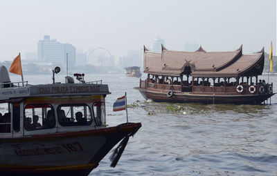
[[0,175],[89,175],[118,141],[141,124],[0,139]]

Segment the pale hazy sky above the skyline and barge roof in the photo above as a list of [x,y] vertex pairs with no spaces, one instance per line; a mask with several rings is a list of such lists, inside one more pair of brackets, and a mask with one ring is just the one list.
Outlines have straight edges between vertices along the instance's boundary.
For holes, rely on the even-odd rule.
[[82,52],[104,47],[116,57],[143,44],[151,48],[157,37],[171,50],[190,42],[207,51],[241,44],[244,53],[268,51],[276,40],[274,1],[0,0],[0,61],[37,52],[44,35]]

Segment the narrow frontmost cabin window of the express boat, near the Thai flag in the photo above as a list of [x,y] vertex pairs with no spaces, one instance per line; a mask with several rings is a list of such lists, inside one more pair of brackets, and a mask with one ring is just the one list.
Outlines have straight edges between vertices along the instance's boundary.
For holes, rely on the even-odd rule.
[[93,104],[93,117],[96,126],[103,126],[105,124],[105,103],[96,102]]

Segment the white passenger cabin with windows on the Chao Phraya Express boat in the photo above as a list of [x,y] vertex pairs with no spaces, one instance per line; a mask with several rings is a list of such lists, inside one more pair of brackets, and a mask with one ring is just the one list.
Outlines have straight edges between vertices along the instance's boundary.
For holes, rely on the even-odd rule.
[[102,81],[30,85],[11,82],[0,67],[0,138],[106,127]]

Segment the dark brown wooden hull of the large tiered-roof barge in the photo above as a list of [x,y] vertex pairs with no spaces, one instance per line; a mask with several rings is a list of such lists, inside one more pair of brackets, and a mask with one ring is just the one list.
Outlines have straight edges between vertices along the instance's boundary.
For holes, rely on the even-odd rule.
[[195,95],[189,92],[174,93],[168,97],[166,92],[155,92],[143,88],[135,88],[145,99],[171,103],[202,103],[202,104],[262,104],[275,93],[264,95]]

